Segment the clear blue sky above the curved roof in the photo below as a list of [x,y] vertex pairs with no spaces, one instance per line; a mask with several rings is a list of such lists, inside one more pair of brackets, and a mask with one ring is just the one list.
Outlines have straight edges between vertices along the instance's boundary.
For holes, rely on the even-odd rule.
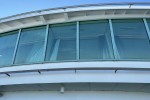
[[41,9],[112,2],[150,2],[150,0],[0,0],[0,18]]

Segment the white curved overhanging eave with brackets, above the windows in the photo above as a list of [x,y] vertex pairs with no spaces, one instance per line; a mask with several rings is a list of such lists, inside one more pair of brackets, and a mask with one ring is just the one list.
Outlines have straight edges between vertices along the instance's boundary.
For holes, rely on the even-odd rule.
[[45,24],[109,18],[150,18],[150,6],[95,4],[33,11],[0,19],[0,33]]

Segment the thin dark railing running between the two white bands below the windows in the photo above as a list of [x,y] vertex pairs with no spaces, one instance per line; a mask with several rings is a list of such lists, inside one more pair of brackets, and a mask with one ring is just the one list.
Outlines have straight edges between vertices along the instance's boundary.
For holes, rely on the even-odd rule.
[[[1,74],[5,74],[7,76],[11,76],[11,74],[13,73],[30,73],[30,72],[37,72],[39,74],[42,74],[42,72],[61,72],[61,71],[72,71],[73,73],[78,73],[78,71],[88,71],[89,73],[95,73],[94,71],[113,71],[114,73],[117,73],[117,71],[140,71],[140,72],[149,72],[150,73],[150,69],[145,69],[145,68],[59,68],[59,69],[34,69],[34,70],[19,70],[19,71],[6,71],[6,72],[0,72]],[[99,73],[100,73],[99,72]],[[65,73],[65,72],[64,72]]]

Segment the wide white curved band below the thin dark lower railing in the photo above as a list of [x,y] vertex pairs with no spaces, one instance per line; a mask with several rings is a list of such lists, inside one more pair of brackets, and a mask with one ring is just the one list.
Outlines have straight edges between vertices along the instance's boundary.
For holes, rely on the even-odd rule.
[[1,77],[0,85],[36,83],[150,83],[150,73],[56,73]]

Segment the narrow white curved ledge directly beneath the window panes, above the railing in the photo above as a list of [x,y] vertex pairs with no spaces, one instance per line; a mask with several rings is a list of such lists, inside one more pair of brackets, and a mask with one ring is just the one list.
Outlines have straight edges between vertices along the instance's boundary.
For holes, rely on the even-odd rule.
[[61,69],[61,68],[143,68],[150,69],[149,61],[90,61],[90,62],[57,62],[44,64],[20,65],[0,68],[0,72]]

